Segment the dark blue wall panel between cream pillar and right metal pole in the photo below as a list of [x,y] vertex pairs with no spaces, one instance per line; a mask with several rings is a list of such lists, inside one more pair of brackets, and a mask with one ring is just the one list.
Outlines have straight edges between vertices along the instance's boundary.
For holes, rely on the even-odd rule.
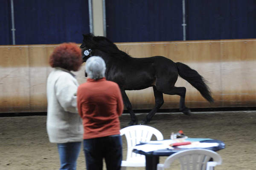
[[113,42],[183,40],[181,0],[106,0]]

